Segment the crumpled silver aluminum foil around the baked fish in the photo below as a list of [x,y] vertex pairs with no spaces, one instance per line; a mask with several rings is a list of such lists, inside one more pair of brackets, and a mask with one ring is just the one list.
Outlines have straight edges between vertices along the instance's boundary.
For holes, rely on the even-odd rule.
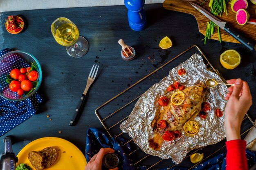
[[[186,70],[185,75],[179,76],[177,74],[180,68]],[[184,135],[184,131],[181,131],[181,138],[171,142],[164,141],[161,149],[158,151],[150,148],[148,144],[148,140],[153,137],[153,128],[150,124],[157,110],[157,105],[155,104],[158,100],[157,96],[163,95],[164,90],[175,81],[189,87],[198,84],[200,81],[204,82],[207,78],[215,78],[218,82],[223,83],[217,74],[207,69],[199,54],[193,54],[184,63],[173,68],[168,76],[150,87],[139,98],[129,118],[121,124],[120,129],[128,133],[145,153],[162,159],[171,158],[176,164],[180,163],[190,150],[220,142],[225,138],[224,115],[218,118],[215,115],[215,110],[218,108],[224,111],[225,109],[227,101],[223,98],[227,93],[226,85],[207,88],[204,102],[209,102],[211,109],[207,111],[208,115],[205,120],[199,116],[193,119],[200,126],[199,132],[196,135],[189,137]]]

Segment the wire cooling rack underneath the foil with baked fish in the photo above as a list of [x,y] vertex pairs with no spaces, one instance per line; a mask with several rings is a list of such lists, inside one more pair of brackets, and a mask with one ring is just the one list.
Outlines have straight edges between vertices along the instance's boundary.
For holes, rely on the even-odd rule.
[[[123,122],[124,120],[126,120],[129,115],[130,112],[132,111],[134,105],[131,105],[132,103],[135,103],[137,101],[137,99],[144,93],[140,93],[138,94],[138,89],[140,89],[139,91],[141,91],[141,87],[137,88],[136,90],[133,90],[135,92],[134,95],[137,94],[136,98],[133,98],[131,101],[127,101],[126,100],[126,104],[123,106],[119,106],[119,104],[116,105],[116,102],[114,102],[115,100],[119,100],[118,98],[120,98],[121,96],[125,96],[124,98],[126,98],[129,94],[130,96],[134,96],[132,95],[130,92],[132,90],[132,88],[135,88],[137,86],[139,86],[139,84],[143,81],[145,81],[147,78],[151,78],[151,80],[148,83],[144,83],[142,86],[146,87],[145,89],[147,90],[149,87],[147,85],[150,85],[150,87],[155,84],[158,83],[162,78],[161,77],[157,77],[158,74],[157,72],[164,70],[164,67],[166,66],[170,66],[171,67],[175,67],[175,65],[173,65],[172,61],[174,61],[177,58],[182,58],[181,56],[184,56],[187,53],[191,53],[192,51],[196,51],[195,53],[199,53],[201,55],[201,57],[204,60],[204,63],[207,65],[207,68],[212,69],[213,72],[215,72],[218,76],[220,76],[219,72],[211,65],[211,63],[209,62],[209,60],[207,59],[207,57],[203,54],[202,50],[200,50],[200,48],[196,45],[191,46],[190,48],[188,48],[187,50],[181,52],[180,54],[178,54],[177,56],[173,57],[171,60],[169,60],[168,62],[166,62],[165,64],[163,64],[161,67],[157,68],[156,70],[154,70],[153,72],[151,72],[150,74],[146,75],[144,78],[141,78],[139,81],[137,81],[136,83],[134,83],[133,85],[130,85],[130,87],[128,87],[127,89],[125,89],[123,92],[117,94],[116,96],[114,96],[113,98],[111,98],[110,100],[108,100],[107,102],[105,102],[103,105],[101,105],[100,107],[98,107],[95,110],[95,114],[96,116],[99,118],[101,124],[103,125],[103,127],[106,129],[106,131],[108,132],[108,134],[110,135],[110,137],[123,137],[125,139],[127,139],[127,142],[122,144],[122,146],[125,146],[126,144],[130,144],[133,145],[132,148],[135,148],[131,153],[129,153],[128,155],[130,157],[137,157],[138,155],[141,155],[140,158],[138,158],[138,160],[134,162],[135,166],[140,166],[140,165],[146,165],[147,170],[149,169],[157,169],[157,168],[163,168],[161,166],[164,167],[169,167],[168,169],[171,169],[175,166],[182,166],[182,163],[184,162],[184,164],[186,166],[189,166],[188,168],[193,168],[195,166],[197,166],[199,163],[196,164],[192,164],[189,161],[189,156],[192,155],[193,153],[197,153],[199,150],[201,150],[201,152],[208,152],[209,154],[205,154],[205,157],[202,161],[212,157],[213,155],[216,155],[220,152],[224,153],[225,152],[225,140],[222,140],[222,142],[219,142],[221,144],[218,143],[217,146],[204,146],[203,148],[199,148],[196,150],[192,150],[191,152],[189,152],[187,154],[187,156],[185,157],[185,159],[182,161],[182,163],[175,165],[174,163],[172,163],[172,161],[170,161],[170,159],[161,159],[159,157],[156,156],[152,156],[149,154],[144,153],[134,142],[133,139],[131,137],[129,137],[126,133],[123,133],[121,131],[121,129],[119,129],[119,126],[121,124],[121,122]],[[191,53],[194,54],[194,53]],[[187,55],[187,56],[191,56],[191,55]],[[177,65],[176,65],[177,66]],[[167,69],[165,73],[163,73],[164,75],[168,75],[168,72],[171,69]],[[155,76],[154,76],[155,75]],[[154,76],[154,77],[153,77]],[[220,76],[220,78],[222,78],[222,76]],[[152,81],[153,79],[153,81]],[[223,80],[223,78],[222,78]],[[225,81],[225,80],[223,80]],[[153,83],[152,83],[153,82]],[[137,92],[136,92],[137,91]],[[125,95],[126,94],[126,95]],[[128,98],[129,98],[128,97]],[[127,98],[126,98],[127,99]],[[122,103],[124,103],[124,100],[121,100]],[[114,104],[112,104],[112,102],[114,102]],[[109,108],[107,108],[107,106],[109,105]],[[128,108],[129,106],[129,108]],[[111,107],[111,109],[110,109]],[[128,109],[127,109],[128,108]],[[105,110],[104,110],[105,109]],[[111,111],[109,111],[111,110]],[[101,111],[103,111],[103,113],[101,113]],[[109,113],[108,113],[109,112]],[[124,113],[126,112],[126,113]],[[117,114],[118,113],[118,114]],[[115,120],[113,121],[112,118],[115,118]],[[242,139],[245,137],[245,135],[253,128],[256,128],[256,125],[254,124],[254,122],[252,121],[252,119],[248,116],[248,114],[246,113],[246,116],[243,120],[242,123],[242,128],[241,128],[241,137]],[[247,143],[247,146],[250,146],[252,144],[254,144],[256,141],[256,138],[253,139],[251,142]],[[137,147],[137,148],[136,148]],[[214,147],[214,149],[212,149],[212,147]],[[205,150],[205,151],[204,151]],[[209,151],[210,150],[210,151]],[[135,156],[133,156],[135,155]],[[188,158],[188,159],[187,159]],[[136,158],[137,159],[137,158]],[[148,160],[147,160],[148,159]],[[167,161],[166,161],[167,160]],[[164,163],[165,161],[165,163]],[[162,162],[162,163],[160,163]],[[171,164],[170,164],[171,163]],[[160,166],[161,165],[161,166]]]

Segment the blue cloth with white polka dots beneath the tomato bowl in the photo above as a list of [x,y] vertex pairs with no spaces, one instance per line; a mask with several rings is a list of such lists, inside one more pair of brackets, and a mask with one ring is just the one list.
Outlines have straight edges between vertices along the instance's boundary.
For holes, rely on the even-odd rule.
[[[0,57],[8,52],[11,52],[9,48],[1,50]],[[1,62],[0,65],[8,65],[10,69],[13,69],[16,67],[17,57],[21,59],[21,57],[13,54],[10,59]],[[24,61],[24,67],[28,66],[30,66],[29,63]],[[6,72],[10,71],[11,70],[7,70]],[[4,75],[0,75],[1,82],[4,82],[7,78],[6,73],[3,74]],[[20,123],[33,116],[36,113],[36,108],[42,101],[43,99],[38,92],[36,92],[30,98],[19,102],[13,102],[0,96],[0,136],[2,136],[4,133],[7,133],[15,126],[18,126]]]

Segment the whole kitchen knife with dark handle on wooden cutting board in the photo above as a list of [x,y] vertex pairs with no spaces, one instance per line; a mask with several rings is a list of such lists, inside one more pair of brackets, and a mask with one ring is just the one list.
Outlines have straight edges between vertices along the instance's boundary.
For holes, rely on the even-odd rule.
[[209,20],[214,22],[216,25],[218,25],[222,30],[226,31],[229,35],[234,37],[237,41],[239,41],[241,44],[243,44],[246,48],[253,51],[256,50],[256,42],[246,38],[241,33],[238,33],[237,31],[234,31],[230,28],[229,24],[227,22],[224,22],[211,13],[209,13],[207,10],[203,9],[197,4],[194,4],[192,2],[189,2],[195,9],[197,9],[200,13],[202,13],[204,16],[206,16]]

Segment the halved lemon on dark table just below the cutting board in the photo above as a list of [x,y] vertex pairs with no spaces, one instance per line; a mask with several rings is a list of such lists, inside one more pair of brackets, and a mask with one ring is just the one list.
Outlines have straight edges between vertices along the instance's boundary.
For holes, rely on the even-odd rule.
[[224,68],[234,69],[241,61],[240,54],[236,50],[226,50],[220,55],[220,63]]

